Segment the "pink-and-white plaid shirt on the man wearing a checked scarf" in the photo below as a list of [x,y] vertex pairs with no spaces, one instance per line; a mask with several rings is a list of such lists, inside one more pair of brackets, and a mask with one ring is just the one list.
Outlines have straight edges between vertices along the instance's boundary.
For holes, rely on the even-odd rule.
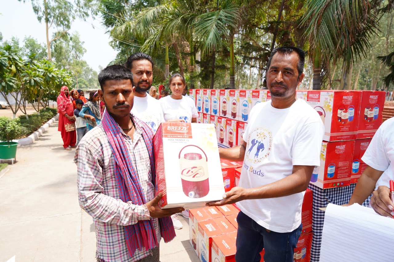
[[[132,115],[132,114],[131,114]],[[134,118],[134,115],[132,115]],[[133,139],[123,131],[132,164],[136,167],[145,199],[154,198],[149,154],[142,138],[142,127],[136,121]],[[121,127],[119,127],[121,129]],[[151,254],[151,250],[137,250],[128,256],[123,226],[138,220],[147,220],[143,206],[119,199],[115,181],[115,159],[101,124],[82,138],[75,151],[74,162],[78,167],[78,197],[80,207],[93,217],[96,229],[96,256],[108,262],[134,262]],[[160,226],[157,218],[151,218],[158,242]]]

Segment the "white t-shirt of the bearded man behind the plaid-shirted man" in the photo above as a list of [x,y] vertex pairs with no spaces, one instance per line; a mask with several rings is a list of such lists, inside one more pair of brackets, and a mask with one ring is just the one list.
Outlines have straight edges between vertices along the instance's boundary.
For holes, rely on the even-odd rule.
[[145,97],[134,96],[134,105],[131,113],[145,122],[153,133],[159,128],[161,122],[164,122],[162,107],[157,99],[147,94]]

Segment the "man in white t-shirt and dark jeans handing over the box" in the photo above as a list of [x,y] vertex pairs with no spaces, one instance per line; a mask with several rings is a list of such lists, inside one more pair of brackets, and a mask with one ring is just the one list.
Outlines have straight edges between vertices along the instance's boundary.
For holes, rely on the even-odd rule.
[[238,202],[237,262],[292,262],[301,234],[303,191],[320,165],[324,127],[318,113],[296,99],[305,52],[275,48],[268,61],[271,100],[253,107],[241,146],[221,149],[221,158],[243,160],[239,186],[208,205]]

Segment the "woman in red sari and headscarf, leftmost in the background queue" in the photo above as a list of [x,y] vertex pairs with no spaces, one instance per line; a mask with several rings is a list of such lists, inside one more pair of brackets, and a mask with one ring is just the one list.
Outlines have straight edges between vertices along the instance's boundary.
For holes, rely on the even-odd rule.
[[60,131],[61,138],[63,139],[64,150],[71,150],[71,148],[76,147],[76,131],[74,124],[74,107],[72,105],[68,87],[61,87],[57,102],[59,113],[58,131]]

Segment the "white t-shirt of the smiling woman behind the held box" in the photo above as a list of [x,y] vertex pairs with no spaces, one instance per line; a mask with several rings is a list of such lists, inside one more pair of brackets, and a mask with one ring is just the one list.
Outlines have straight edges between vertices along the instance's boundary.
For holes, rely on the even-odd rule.
[[165,96],[159,99],[162,106],[164,120],[183,119],[190,123],[191,118],[198,116],[197,108],[191,98],[182,96],[182,99],[173,99],[171,96]]

